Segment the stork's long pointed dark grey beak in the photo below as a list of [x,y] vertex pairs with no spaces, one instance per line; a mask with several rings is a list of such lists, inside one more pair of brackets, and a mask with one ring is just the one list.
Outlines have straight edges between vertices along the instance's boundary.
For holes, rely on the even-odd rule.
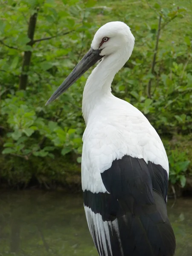
[[55,93],[48,99],[45,105],[48,105],[52,101],[58,98],[64,91],[66,91],[72,84],[74,84],[79,77],[81,77],[91,66],[96,64],[103,56],[100,55],[101,50],[90,50],[79,61],[74,70],[67,76],[63,83],[58,87]]

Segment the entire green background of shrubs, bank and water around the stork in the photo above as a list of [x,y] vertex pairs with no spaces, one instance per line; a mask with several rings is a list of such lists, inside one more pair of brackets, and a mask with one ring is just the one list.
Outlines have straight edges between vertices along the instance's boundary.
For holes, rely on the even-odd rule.
[[0,0],[0,256],[97,255],[81,196],[91,70],[45,103],[115,20],[130,26],[135,47],[112,91],[163,140],[176,256],[192,255],[192,1]]

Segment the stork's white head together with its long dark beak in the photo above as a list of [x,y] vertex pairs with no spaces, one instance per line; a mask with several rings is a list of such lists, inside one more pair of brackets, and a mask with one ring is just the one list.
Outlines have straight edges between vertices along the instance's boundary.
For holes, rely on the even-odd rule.
[[[91,66],[101,58],[123,51],[125,58],[129,58],[134,47],[134,36],[130,28],[123,22],[113,21],[106,23],[96,32],[90,50],[84,55],[74,70],[58,87],[55,93],[47,101],[48,105],[57,99],[65,90],[77,81]],[[127,55],[127,57],[126,57]]]

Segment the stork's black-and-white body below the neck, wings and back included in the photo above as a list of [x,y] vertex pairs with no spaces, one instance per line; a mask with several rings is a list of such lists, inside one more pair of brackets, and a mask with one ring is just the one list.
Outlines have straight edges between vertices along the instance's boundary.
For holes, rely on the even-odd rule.
[[108,106],[95,110],[83,137],[84,207],[99,255],[173,256],[169,165],[160,137],[127,102],[113,98]]

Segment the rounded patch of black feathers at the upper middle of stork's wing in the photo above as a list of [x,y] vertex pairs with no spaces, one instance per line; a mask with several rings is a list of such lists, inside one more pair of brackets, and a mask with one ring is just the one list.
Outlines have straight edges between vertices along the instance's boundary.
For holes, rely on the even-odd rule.
[[143,159],[124,156],[113,161],[101,176],[107,191],[116,198],[124,201],[131,196],[138,204],[154,204],[152,180]]

